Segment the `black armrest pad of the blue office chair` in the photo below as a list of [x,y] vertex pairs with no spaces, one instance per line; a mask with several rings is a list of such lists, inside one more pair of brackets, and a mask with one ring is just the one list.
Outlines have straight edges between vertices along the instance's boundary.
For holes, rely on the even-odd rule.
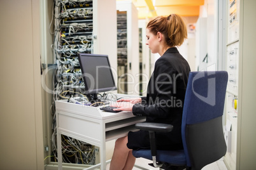
[[140,122],[135,124],[135,128],[145,131],[169,132],[173,130],[173,125],[152,122]]

